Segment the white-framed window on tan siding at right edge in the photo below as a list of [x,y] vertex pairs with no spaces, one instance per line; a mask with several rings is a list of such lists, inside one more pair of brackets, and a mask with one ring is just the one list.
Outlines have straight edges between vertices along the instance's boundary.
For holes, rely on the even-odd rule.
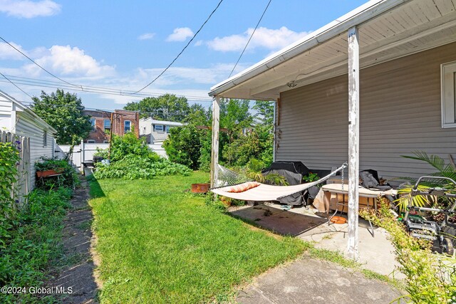
[[442,64],[442,127],[456,127],[456,62]]

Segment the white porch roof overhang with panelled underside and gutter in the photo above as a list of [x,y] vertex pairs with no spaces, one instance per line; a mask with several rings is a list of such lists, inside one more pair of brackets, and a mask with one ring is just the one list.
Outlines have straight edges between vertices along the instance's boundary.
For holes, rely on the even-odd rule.
[[[360,68],[456,41],[455,1],[373,0],[211,88],[210,96],[276,100],[348,73],[347,31],[358,27]],[[289,87],[287,83],[293,83]]]

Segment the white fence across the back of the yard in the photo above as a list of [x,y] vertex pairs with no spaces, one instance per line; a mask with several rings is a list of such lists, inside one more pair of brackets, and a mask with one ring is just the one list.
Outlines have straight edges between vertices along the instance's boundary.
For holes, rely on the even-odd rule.
[[[148,145],[150,150],[159,154],[161,157],[167,158],[165,149],[162,145]],[[73,155],[71,162],[74,167],[80,168],[83,172],[82,163],[93,159],[93,155],[97,152],[97,148],[100,150],[108,149],[109,144],[88,144],[81,142],[80,145],[74,146]],[[65,154],[70,150],[70,145],[58,145],[56,149],[56,157],[63,158]]]

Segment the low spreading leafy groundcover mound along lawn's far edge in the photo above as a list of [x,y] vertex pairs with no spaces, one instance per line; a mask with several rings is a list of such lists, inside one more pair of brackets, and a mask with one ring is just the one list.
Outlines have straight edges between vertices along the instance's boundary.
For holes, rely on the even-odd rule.
[[123,178],[123,179],[152,179],[158,175],[183,174],[192,172],[182,164],[175,164],[167,159],[142,157],[129,154],[123,159],[111,164],[97,163],[93,173],[96,179]]

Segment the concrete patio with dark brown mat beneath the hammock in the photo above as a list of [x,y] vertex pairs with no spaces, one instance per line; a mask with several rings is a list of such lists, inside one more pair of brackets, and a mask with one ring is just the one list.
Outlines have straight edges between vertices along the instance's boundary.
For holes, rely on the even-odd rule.
[[[348,224],[327,224],[327,214],[318,214],[314,209],[296,206],[288,211],[283,205],[265,203],[259,206],[244,206],[231,214],[253,221],[261,228],[281,235],[291,235],[314,243],[316,248],[338,251],[346,256]],[[318,214],[318,215],[317,215]],[[340,215],[340,214],[338,214]],[[374,236],[369,232],[368,221],[359,219],[358,263],[376,273],[390,278],[402,279],[396,270],[394,247],[388,241],[388,233],[374,226]]]

